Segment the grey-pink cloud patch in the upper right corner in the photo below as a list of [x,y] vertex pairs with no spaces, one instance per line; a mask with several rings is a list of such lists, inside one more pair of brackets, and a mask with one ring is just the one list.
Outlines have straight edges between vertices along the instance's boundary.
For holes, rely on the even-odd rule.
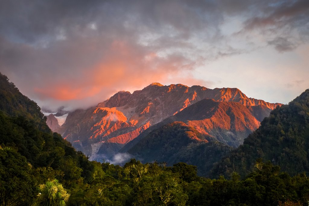
[[[254,15],[243,22],[243,32],[257,31],[265,36],[267,45],[274,46],[278,52],[291,51],[309,38],[309,2],[269,1],[253,7]],[[269,40],[271,38],[272,40]],[[260,38],[261,39],[261,38]]]

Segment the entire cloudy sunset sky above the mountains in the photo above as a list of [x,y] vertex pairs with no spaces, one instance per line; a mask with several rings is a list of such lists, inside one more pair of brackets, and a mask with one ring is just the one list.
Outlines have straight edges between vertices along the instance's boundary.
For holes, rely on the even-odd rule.
[[309,88],[309,1],[0,0],[0,72],[51,109],[152,82],[286,104]]

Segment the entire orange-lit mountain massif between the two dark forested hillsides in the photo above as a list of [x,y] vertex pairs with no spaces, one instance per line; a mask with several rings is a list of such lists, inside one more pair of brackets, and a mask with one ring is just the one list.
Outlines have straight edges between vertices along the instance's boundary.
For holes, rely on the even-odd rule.
[[[248,98],[237,88],[152,83],[133,94],[120,91],[87,110],[46,115],[49,127],[90,160],[102,162],[125,153],[142,162],[202,165],[215,156],[214,148],[225,154],[222,150],[241,145],[277,106],[281,104]],[[60,115],[66,116],[61,125]],[[200,163],[188,155],[197,148],[210,153],[201,154]],[[213,158],[207,168],[221,155]]]

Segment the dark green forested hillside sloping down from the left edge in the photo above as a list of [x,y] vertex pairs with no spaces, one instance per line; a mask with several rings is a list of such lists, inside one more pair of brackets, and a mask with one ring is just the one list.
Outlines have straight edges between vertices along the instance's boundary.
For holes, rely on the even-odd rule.
[[31,205],[39,184],[48,179],[59,179],[70,189],[100,173],[101,168],[95,170],[96,162],[89,162],[61,135],[51,132],[35,102],[22,95],[6,76],[0,74],[0,80],[2,205]]

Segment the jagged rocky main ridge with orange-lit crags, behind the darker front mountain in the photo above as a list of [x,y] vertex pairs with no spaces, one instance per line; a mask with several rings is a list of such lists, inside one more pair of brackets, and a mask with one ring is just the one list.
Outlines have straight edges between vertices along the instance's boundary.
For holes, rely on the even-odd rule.
[[[65,124],[58,128],[57,132],[61,133],[78,150],[89,155],[90,159],[101,161],[102,158],[108,158],[109,155],[116,153],[123,145],[138,137],[148,127],[167,117],[180,114],[185,108],[201,99],[214,99],[213,102],[237,102],[240,106],[243,106],[239,110],[244,108],[248,110],[249,108],[249,110],[254,111],[252,112],[255,113],[254,116],[259,116],[259,119],[261,119],[260,116],[264,115],[265,109],[271,110],[281,105],[248,98],[237,88],[208,89],[203,86],[188,87],[182,84],[163,86],[159,83],[153,83],[142,90],[134,91],[133,94],[125,91],[118,92],[110,99],[99,103],[97,107],[87,111],[77,110],[70,113]],[[263,107],[260,107],[259,110],[253,109],[252,106]],[[228,106],[222,104],[221,107]],[[236,113],[242,114],[239,118],[244,121],[248,118],[248,114],[252,116],[250,111]],[[233,111],[231,111],[231,114],[234,114]],[[193,117],[192,120],[185,122],[199,128],[202,128],[201,124],[207,123],[208,126],[201,129],[202,133],[203,131],[205,133],[206,129],[212,128],[214,125],[218,129],[222,127],[227,131],[234,129],[237,133],[243,129],[252,131],[259,124],[258,120],[251,120],[250,117],[248,124],[251,125],[245,125],[246,123],[239,123],[238,121],[235,121],[234,125],[224,125],[215,118],[235,118],[237,120],[238,117],[228,114],[220,116],[219,111],[216,115],[213,116],[213,119],[206,119],[210,123],[218,121],[218,124],[210,124],[206,120],[204,123],[197,123]],[[184,119],[186,118],[184,117]],[[106,148],[106,145],[113,145],[113,149],[109,148],[108,152],[104,153],[105,150],[100,149],[100,147]]]

